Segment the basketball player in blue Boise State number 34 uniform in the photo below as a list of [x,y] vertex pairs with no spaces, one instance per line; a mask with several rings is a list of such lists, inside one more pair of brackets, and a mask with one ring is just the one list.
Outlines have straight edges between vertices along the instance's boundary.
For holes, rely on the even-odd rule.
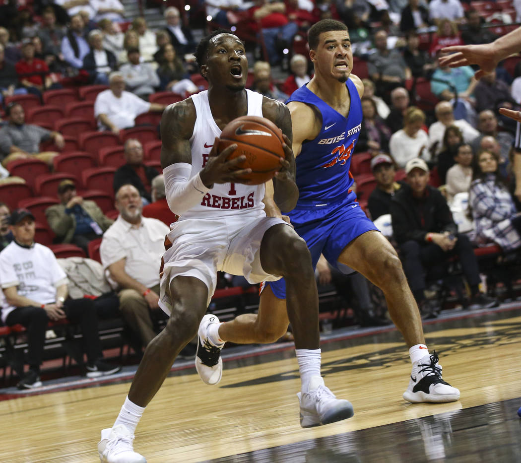
[[[287,102],[300,192],[296,207],[289,212],[291,223],[306,241],[314,267],[323,254],[332,266],[356,270],[384,292],[389,314],[405,338],[412,361],[403,398],[409,402],[457,401],[460,391],[443,381],[438,355],[429,355],[418,307],[398,255],[367,219],[351,190],[349,167],[362,122],[364,89],[362,81],[351,74],[348,29],[339,21],[321,20],[309,29],[308,43],[315,75]],[[275,341],[288,327],[284,279],[266,283],[262,296],[258,315],[221,323],[203,341],[216,346],[224,341]],[[203,380],[201,371],[210,368],[222,367],[200,365]]]

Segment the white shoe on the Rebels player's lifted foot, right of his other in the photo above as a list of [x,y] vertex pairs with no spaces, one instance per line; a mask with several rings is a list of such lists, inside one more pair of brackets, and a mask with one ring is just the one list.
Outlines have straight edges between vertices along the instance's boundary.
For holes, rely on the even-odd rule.
[[320,376],[314,376],[309,382],[308,392],[299,392],[297,397],[300,403],[300,426],[303,428],[345,420],[354,414],[351,402],[337,399]]

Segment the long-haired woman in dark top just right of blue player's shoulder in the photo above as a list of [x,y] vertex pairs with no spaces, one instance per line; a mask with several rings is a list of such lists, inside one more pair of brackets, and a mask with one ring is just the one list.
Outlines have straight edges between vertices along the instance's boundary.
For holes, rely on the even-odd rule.
[[378,117],[376,104],[372,98],[362,97],[362,127],[355,146],[355,153],[368,151],[376,156],[379,152],[389,152],[391,129]]

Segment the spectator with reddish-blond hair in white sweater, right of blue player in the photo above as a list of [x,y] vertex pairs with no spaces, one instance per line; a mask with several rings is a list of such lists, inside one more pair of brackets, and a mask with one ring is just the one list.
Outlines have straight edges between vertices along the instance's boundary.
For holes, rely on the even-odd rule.
[[422,129],[424,124],[424,112],[415,106],[411,106],[407,109],[403,120],[403,129],[391,135],[389,153],[398,168],[404,168],[408,160],[417,157],[430,160],[427,149],[429,136]]

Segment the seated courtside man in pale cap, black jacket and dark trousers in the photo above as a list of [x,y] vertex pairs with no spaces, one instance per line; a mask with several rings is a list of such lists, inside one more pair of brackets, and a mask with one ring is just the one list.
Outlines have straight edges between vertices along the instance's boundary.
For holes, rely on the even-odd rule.
[[[446,265],[458,256],[470,286],[470,304],[494,307],[498,303],[479,291],[479,266],[472,244],[457,226],[445,198],[429,182],[429,168],[423,159],[411,159],[405,167],[408,185],[391,201],[394,239],[400,247],[405,275],[420,312],[436,316],[439,308],[428,308],[424,294],[427,270]],[[430,313],[429,313],[430,312]]]

